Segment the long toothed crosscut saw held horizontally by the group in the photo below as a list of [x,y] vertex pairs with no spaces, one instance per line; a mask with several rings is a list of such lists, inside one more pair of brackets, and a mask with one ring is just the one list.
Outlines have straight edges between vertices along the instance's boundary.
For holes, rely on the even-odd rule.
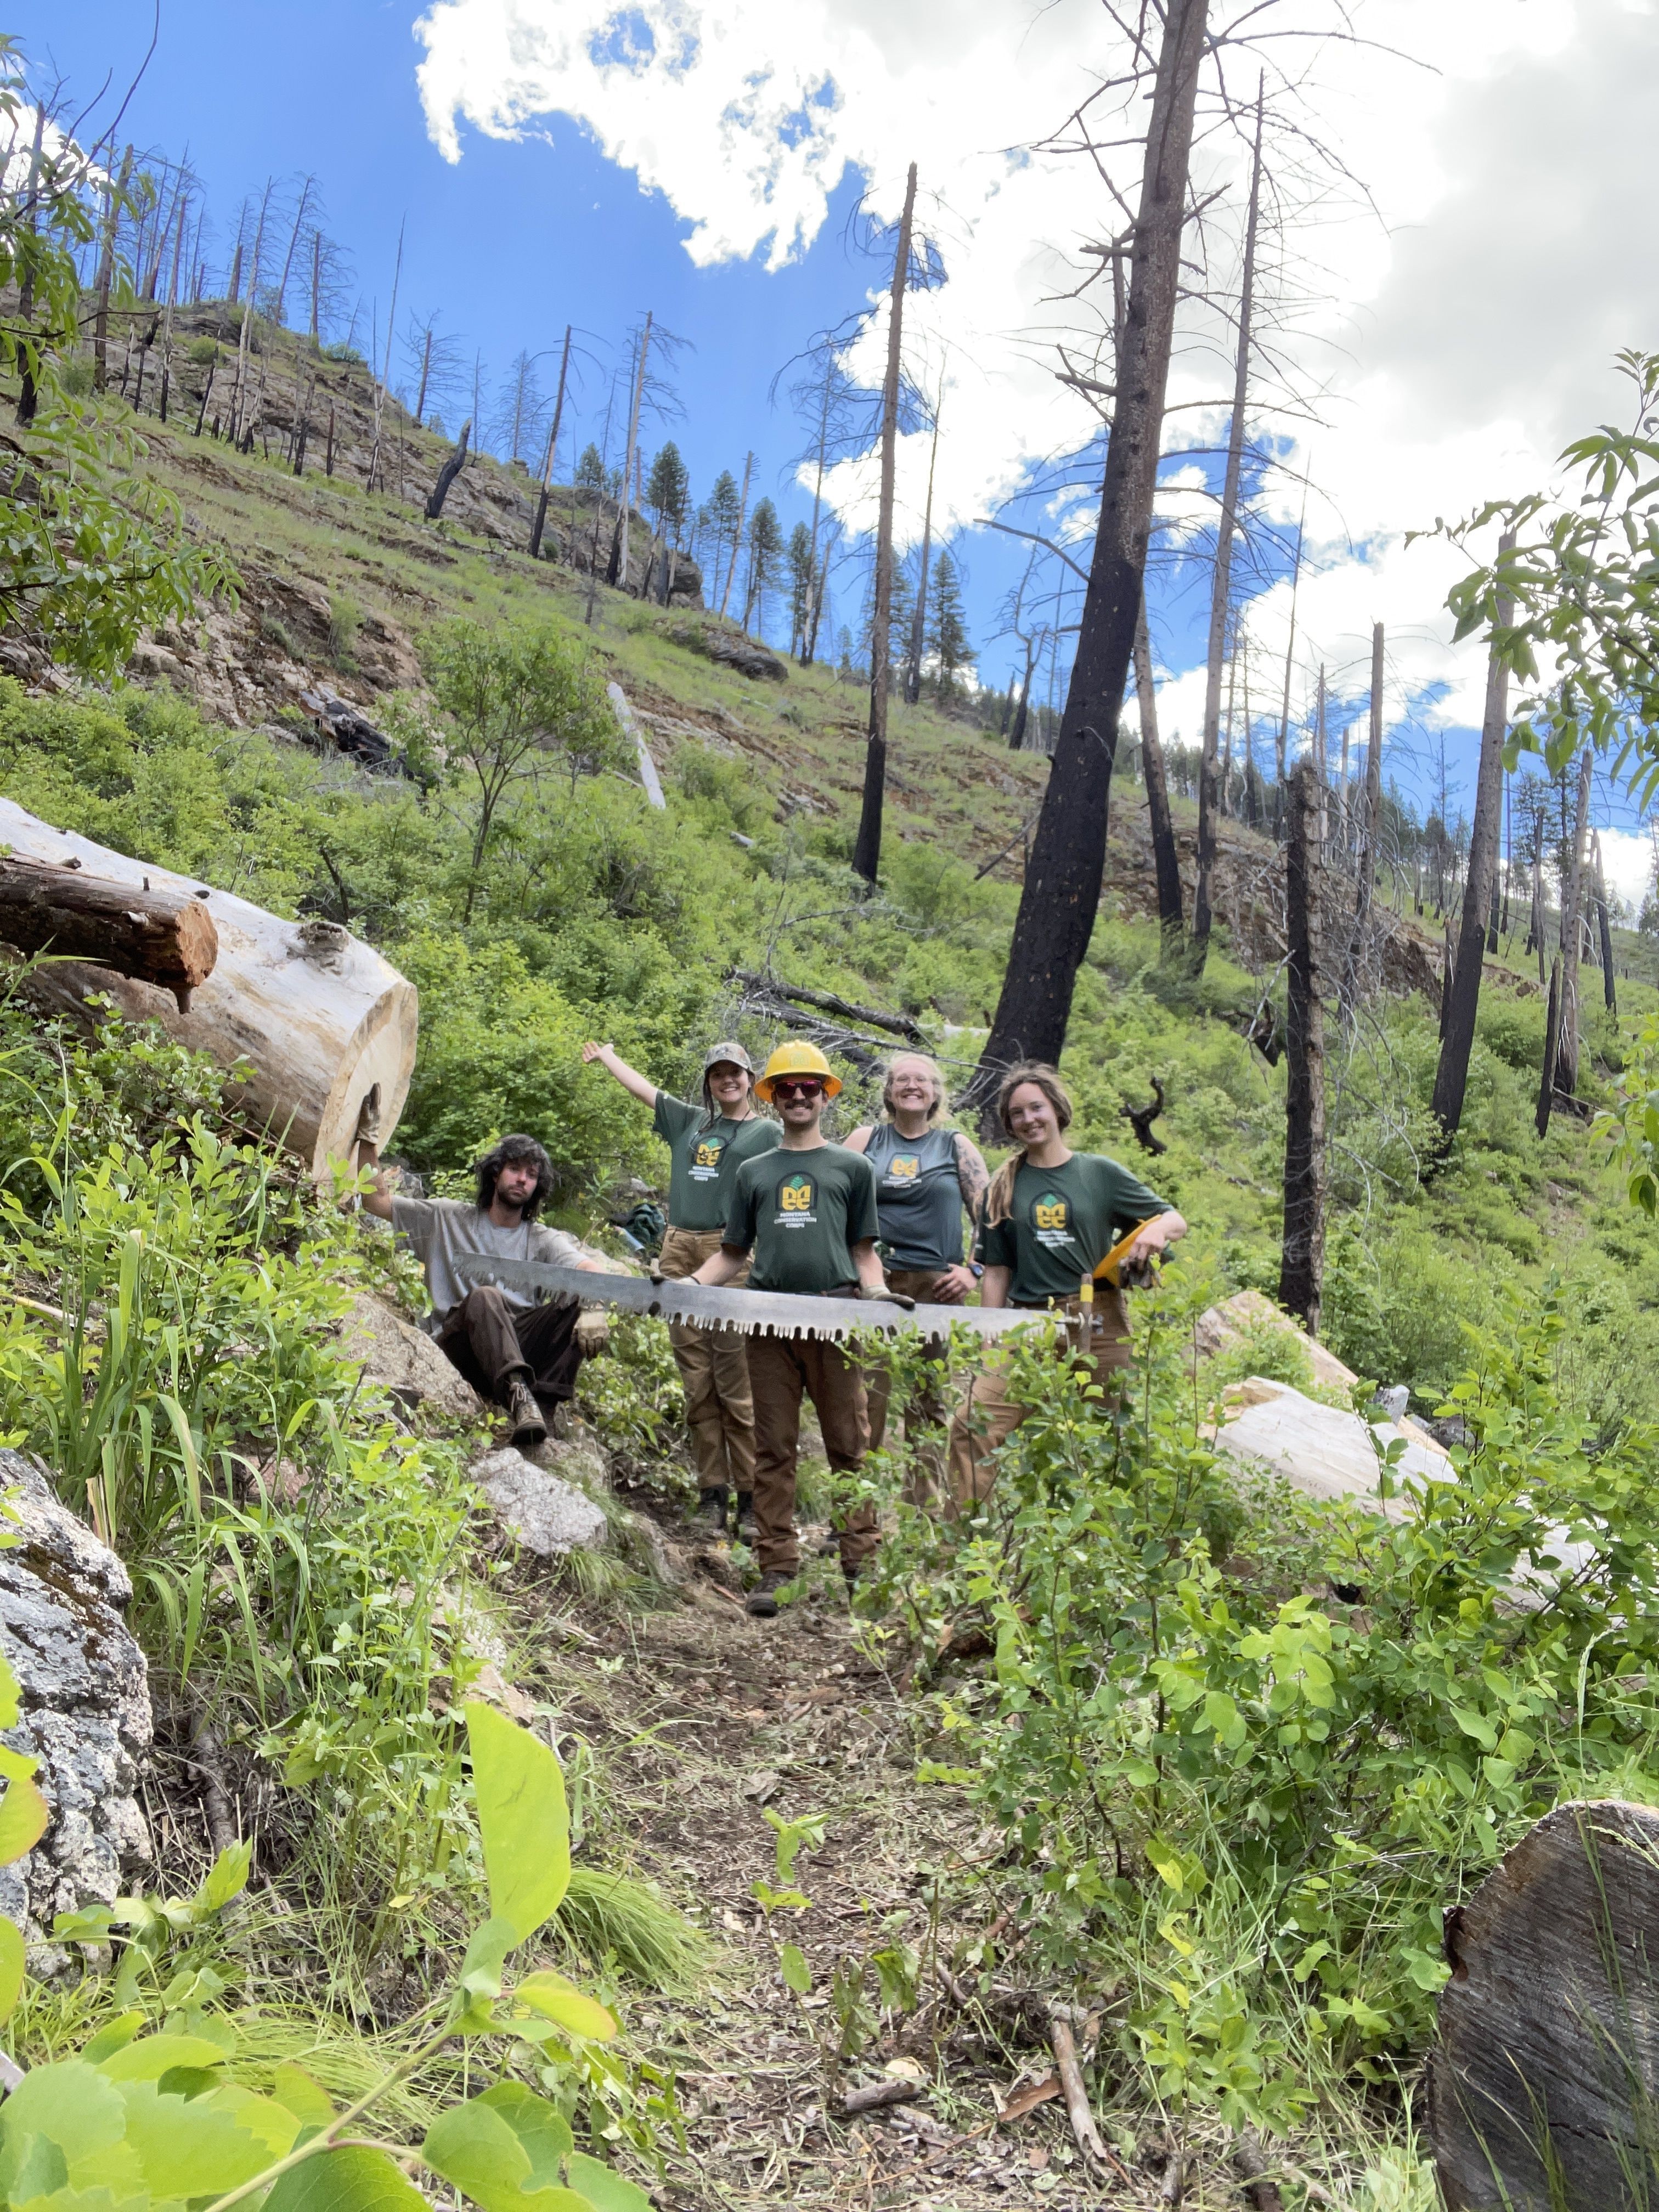
[[717,1290],[712,1283],[653,1283],[639,1274],[588,1274],[535,1259],[495,1259],[491,1252],[456,1256],[462,1283],[504,1283],[540,1290],[551,1303],[615,1305],[624,1314],[681,1321],[692,1329],[730,1329],[743,1336],[854,1336],[858,1329],[887,1334],[949,1336],[973,1329],[987,1343],[1009,1329],[1048,1325],[1048,1316],[1022,1305],[891,1305],[885,1298],[799,1298],[783,1290]]

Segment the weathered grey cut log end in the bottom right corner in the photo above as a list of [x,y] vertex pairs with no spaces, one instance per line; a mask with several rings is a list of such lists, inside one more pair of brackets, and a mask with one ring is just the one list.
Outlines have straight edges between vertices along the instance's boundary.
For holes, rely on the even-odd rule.
[[1429,2064],[1449,2212],[1659,2197],[1659,1812],[1559,1805],[1447,1916]]

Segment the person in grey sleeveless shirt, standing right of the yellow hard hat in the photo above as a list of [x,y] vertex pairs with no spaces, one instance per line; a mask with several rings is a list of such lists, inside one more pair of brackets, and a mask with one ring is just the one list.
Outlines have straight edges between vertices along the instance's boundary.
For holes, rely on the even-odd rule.
[[[945,1075],[927,1053],[896,1053],[887,1064],[880,1102],[885,1117],[865,1121],[847,1137],[849,1152],[863,1152],[876,1170],[876,1217],[889,1285],[918,1305],[960,1305],[978,1281],[978,1265],[962,1261],[962,1217],[969,1230],[991,1181],[980,1148],[960,1128],[940,1128],[949,1113]],[[929,1338],[929,1360],[942,1363],[945,1345]],[[887,1433],[891,1369],[872,1367],[869,1449],[880,1451]],[[942,1486],[945,1453],[942,1374],[920,1383],[905,1416],[905,1433],[916,1442],[911,1504]]]

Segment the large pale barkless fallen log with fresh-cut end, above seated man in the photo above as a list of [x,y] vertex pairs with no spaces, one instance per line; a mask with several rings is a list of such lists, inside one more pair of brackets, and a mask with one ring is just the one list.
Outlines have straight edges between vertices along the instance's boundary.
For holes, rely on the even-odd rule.
[[409,1093],[418,998],[372,947],[338,922],[288,922],[232,891],[201,894],[190,876],[53,830],[9,799],[0,799],[0,845],[49,869],[77,860],[88,876],[128,889],[148,878],[153,894],[206,896],[217,929],[219,956],[188,1011],[157,984],[91,960],[38,967],[29,984],[35,1000],[86,1020],[88,995],[102,993],[128,1020],[161,1022],[226,1068],[246,1062],[234,1104],[312,1175],[349,1155],[369,1102],[385,1146]]

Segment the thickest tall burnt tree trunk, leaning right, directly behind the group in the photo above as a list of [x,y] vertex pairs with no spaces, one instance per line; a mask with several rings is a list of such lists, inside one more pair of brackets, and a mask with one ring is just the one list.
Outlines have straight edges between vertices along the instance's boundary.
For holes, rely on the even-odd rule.
[[1095,555],[1002,998],[969,1086],[975,1102],[995,1093],[1011,1062],[1060,1060],[1095,929],[1117,719],[1146,584],[1206,18],[1208,0],[1170,0],[1164,15]]

